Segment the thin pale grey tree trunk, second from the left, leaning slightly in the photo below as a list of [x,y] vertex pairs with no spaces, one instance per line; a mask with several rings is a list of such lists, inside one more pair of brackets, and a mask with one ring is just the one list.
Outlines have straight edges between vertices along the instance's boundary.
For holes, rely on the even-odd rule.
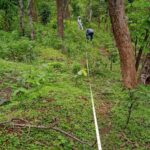
[[34,27],[33,27],[33,20],[32,20],[32,0],[28,0],[28,16],[29,16],[29,23],[30,23],[30,36],[31,39],[34,40],[35,34],[34,34]]

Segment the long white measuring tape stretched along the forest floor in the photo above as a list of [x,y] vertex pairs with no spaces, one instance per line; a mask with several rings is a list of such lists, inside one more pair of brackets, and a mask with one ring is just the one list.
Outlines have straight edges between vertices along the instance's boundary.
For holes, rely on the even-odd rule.
[[[86,65],[87,65],[87,72],[88,72],[88,76],[89,76],[90,75],[90,69],[89,69],[89,61],[88,61],[87,52],[86,52]],[[96,130],[97,146],[98,146],[98,150],[102,150],[102,144],[101,144],[101,140],[100,140],[100,133],[99,133],[99,127],[98,127],[98,122],[97,122],[97,117],[96,117],[95,104],[94,104],[94,98],[93,98],[91,83],[89,83],[89,86],[90,86],[92,110],[93,110],[93,117],[94,117],[95,130]]]

